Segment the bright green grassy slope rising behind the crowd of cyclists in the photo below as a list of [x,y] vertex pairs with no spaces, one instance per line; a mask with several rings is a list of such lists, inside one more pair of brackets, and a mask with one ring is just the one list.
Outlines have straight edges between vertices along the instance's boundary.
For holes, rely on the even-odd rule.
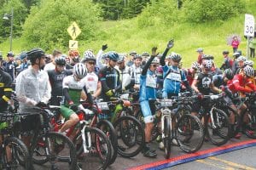
[[[256,15],[256,1],[244,0],[247,4],[247,14]],[[148,19],[150,20],[150,19]],[[166,48],[166,43],[173,37],[175,46],[173,52],[182,54],[183,65],[189,67],[192,61],[197,59],[196,48],[204,48],[205,54],[212,54],[217,65],[223,61],[222,51],[232,48],[227,45],[226,38],[232,34],[242,37],[239,46],[243,55],[246,55],[247,40],[243,38],[244,14],[236,18],[221,22],[214,21],[199,25],[189,23],[176,24],[175,26],[151,26],[139,28],[137,18],[131,20],[101,21],[98,23],[100,30],[96,37],[88,41],[79,40],[79,51],[81,54],[86,49],[97,51],[102,44],[108,43],[108,50],[117,52],[130,52],[136,50],[137,53],[150,52],[151,48],[157,46],[160,53]],[[15,38],[13,49],[15,54],[19,54],[21,44],[26,44],[26,40]],[[67,42],[68,43],[68,42]],[[58,48],[58,47],[56,47]],[[9,51],[9,40],[0,44],[0,51],[3,55]],[[64,52],[66,53],[66,52]],[[232,54],[232,53],[230,53]],[[255,59],[253,59],[256,62]]]

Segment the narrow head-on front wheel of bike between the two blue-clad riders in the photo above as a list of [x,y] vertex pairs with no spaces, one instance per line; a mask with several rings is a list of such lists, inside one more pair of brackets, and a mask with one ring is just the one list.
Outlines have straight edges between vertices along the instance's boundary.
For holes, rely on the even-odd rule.
[[164,138],[163,143],[165,146],[165,157],[166,159],[169,159],[171,156],[171,144],[172,144],[172,131],[171,131],[171,125],[170,125],[171,119],[169,116],[164,117]]

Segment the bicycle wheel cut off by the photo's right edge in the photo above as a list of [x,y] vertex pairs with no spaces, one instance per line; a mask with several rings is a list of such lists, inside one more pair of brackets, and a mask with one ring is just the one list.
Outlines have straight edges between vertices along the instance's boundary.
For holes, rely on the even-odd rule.
[[248,138],[256,139],[256,112],[246,110],[241,115],[241,122],[246,121],[247,123],[243,123],[242,131],[247,135]]

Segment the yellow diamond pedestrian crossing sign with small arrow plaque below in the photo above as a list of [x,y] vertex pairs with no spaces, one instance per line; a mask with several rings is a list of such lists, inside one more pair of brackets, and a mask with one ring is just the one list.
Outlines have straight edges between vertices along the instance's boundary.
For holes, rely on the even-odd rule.
[[69,48],[71,49],[77,49],[79,48],[79,42],[75,41],[75,39],[79,36],[81,33],[81,30],[76,22],[73,22],[71,26],[67,28],[67,32],[72,37],[72,40],[69,40]]

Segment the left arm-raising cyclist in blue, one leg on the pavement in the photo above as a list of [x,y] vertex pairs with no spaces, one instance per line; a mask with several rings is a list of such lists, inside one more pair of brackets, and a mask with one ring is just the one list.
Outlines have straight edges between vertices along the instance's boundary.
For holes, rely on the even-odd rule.
[[[143,112],[144,122],[145,122],[145,141],[146,144],[143,149],[143,156],[156,157],[157,154],[154,150],[150,150],[149,142],[151,138],[151,131],[153,129],[153,115],[154,115],[154,105],[149,104],[149,99],[156,99],[156,68],[159,65],[159,59],[155,58],[157,48],[152,48],[152,55],[148,62],[143,68],[140,77],[140,94],[139,102]],[[153,101],[153,100],[152,100]]]

